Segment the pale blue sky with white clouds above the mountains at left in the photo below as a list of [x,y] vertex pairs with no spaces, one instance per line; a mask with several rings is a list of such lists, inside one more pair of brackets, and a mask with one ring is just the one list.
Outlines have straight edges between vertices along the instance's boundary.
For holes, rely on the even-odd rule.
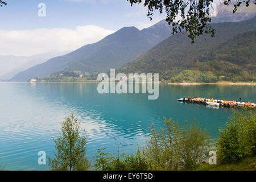
[[[6,0],[0,7],[0,55],[31,56],[49,51],[73,51],[95,43],[125,26],[139,30],[153,20],[143,5],[126,0]],[[41,11],[44,3],[46,11]],[[46,16],[39,16],[46,12]]]

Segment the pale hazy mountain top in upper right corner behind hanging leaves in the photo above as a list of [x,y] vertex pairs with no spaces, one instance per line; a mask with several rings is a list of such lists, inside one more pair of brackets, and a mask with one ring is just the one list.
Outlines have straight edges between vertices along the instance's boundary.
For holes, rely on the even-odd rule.
[[230,2],[229,6],[225,6],[224,3],[221,3],[216,7],[217,16],[212,17],[212,23],[240,22],[253,18],[256,15],[256,6],[253,2],[251,2],[248,7],[245,6],[245,3],[242,3],[236,13],[233,13],[233,9],[234,2]]

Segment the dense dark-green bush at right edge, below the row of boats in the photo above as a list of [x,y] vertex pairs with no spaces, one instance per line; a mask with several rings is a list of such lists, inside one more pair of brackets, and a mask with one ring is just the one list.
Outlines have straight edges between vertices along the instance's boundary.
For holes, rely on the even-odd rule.
[[220,129],[217,159],[221,164],[225,164],[255,155],[255,137],[255,110],[233,111],[226,128]]

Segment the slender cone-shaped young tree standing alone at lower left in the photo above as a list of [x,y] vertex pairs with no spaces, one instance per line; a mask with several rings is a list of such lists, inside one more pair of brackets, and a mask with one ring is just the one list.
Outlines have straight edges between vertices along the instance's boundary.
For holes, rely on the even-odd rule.
[[61,123],[59,137],[55,142],[55,158],[48,158],[52,171],[85,171],[90,167],[86,158],[86,135],[81,132],[81,122],[74,114],[66,117]]

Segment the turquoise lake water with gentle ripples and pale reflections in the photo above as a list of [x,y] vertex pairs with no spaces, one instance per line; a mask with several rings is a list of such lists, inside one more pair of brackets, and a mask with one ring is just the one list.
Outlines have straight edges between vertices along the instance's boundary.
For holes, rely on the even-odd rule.
[[10,170],[44,170],[38,152],[53,156],[54,143],[65,116],[75,113],[88,136],[87,154],[93,160],[97,148],[129,154],[144,146],[150,125],[163,126],[163,117],[184,123],[197,118],[212,138],[224,127],[231,109],[182,104],[184,96],[256,101],[251,85],[159,85],[158,100],[147,94],[98,94],[96,83],[0,82],[0,164]]

